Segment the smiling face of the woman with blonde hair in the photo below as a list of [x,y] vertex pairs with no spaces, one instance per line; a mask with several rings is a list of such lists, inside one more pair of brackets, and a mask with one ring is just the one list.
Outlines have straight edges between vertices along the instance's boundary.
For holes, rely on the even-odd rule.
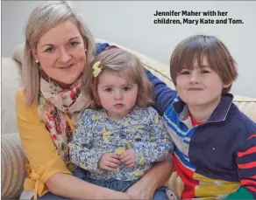
[[49,77],[68,88],[85,67],[85,51],[86,44],[76,24],[67,20],[46,31],[32,53]]

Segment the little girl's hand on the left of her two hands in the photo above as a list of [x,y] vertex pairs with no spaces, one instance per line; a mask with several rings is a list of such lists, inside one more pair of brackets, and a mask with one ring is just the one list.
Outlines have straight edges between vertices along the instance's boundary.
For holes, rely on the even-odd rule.
[[114,153],[106,153],[98,162],[98,166],[100,169],[115,172],[117,171],[120,163],[121,162],[118,160],[118,155]]

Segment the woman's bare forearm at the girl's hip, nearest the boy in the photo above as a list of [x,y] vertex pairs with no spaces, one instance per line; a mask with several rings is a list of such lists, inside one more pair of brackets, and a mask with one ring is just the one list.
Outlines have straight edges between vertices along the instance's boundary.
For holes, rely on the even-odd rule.
[[167,182],[174,171],[172,160],[157,162],[145,176],[126,190],[133,199],[152,199],[154,191]]

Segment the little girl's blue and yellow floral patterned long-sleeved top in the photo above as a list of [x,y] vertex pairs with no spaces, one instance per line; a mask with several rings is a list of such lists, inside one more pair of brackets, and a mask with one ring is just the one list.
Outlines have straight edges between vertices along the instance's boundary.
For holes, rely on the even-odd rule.
[[[87,109],[69,148],[71,162],[89,170],[89,177],[132,181],[145,175],[153,162],[165,160],[172,153],[174,144],[153,107],[133,108],[120,121],[110,121],[103,109]],[[117,172],[98,168],[97,163],[105,153],[121,155],[128,148],[135,151],[133,168],[124,164],[119,165]]]

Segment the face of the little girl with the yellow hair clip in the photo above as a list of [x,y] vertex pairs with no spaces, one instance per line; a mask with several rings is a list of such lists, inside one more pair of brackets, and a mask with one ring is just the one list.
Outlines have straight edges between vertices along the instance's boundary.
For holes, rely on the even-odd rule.
[[121,120],[136,104],[138,85],[128,83],[117,72],[104,70],[99,75],[97,91],[108,117],[111,120]]

